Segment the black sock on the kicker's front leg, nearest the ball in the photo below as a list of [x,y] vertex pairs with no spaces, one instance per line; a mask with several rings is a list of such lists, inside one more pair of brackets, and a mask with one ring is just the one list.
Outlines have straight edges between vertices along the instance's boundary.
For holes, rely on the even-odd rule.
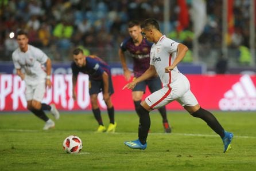
[[139,114],[139,129],[138,137],[141,144],[146,144],[146,140],[150,128],[150,117],[148,110],[144,109],[141,105],[137,107],[137,112]]

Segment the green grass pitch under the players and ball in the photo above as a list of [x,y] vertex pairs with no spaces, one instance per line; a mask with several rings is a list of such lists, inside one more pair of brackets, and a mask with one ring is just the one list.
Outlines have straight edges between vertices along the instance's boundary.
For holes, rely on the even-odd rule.
[[[227,153],[222,140],[199,118],[168,113],[171,134],[163,133],[160,115],[152,112],[146,150],[123,144],[138,137],[133,112],[116,112],[117,132],[108,134],[94,132],[97,124],[90,112],[63,112],[49,131],[42,130],[44,122],[33,114],[0,113],[0,170],[256,170],[255,113],[214,112],[234,133]],[[102,116],[107,126],[107,114]],[[79,154],[62,149],[72,134],[83,141]]]

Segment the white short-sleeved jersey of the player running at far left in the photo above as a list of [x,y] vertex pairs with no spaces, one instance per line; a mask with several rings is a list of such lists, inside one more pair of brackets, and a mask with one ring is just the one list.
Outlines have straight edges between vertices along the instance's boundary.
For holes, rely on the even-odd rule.
[[20,47],[13,52],[13,63],[15,69],[25,70],[25,82],[29,84],[44,81],[46,77],[44,63],[47,61],[47,55],[37,47],[28,45],[28,51],[25,53]]

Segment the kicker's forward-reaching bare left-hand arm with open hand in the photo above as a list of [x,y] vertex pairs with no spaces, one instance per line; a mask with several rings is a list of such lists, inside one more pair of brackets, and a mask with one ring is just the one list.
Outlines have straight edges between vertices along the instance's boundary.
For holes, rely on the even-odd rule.
[[145,71],[145,73],[143,73],[140,77],[134,79],[132,82],[127,83],[124,87],[123,90],[125,88],[127,89],[134,89],[134,87],[136,86],[136,84],[138,82],[144,81],[146,79],[149,79],[151,77],[153,77],[154,75],[157,74],[156,68],[153,65],[149,65],[149,69],[147,69]]

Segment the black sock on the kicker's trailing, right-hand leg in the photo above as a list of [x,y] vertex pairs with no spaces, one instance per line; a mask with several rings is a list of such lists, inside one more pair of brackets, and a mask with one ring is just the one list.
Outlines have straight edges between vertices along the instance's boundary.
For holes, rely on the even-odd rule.
[[221,138],[224,137],[224,129],[222,128],[222,125],[219,124],[218,120],[215,118],[215,116],[211,112],[208,112],[203,108],[200,108],[195,113],[193,113],[192,116],[201,118],[207,123],[207,125],[211,127],[212,130],[214,130],[217,134],[219,134]]

